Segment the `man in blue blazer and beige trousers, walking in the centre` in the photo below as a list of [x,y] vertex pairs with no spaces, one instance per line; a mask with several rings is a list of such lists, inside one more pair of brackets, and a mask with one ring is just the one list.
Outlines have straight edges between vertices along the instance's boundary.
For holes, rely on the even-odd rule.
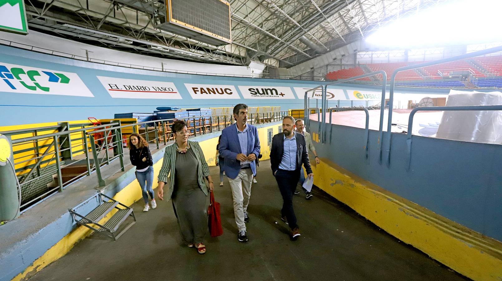
[[260,140],[256,127],[247,124],[246,105],[236,105],[233,118],[235,123],[221,131],[219,153],[224,158],[225,174],[232,189],[233,214],[239,230],[237,239],[246,242],[247,206],[256,175],[255,159],[260,154]]

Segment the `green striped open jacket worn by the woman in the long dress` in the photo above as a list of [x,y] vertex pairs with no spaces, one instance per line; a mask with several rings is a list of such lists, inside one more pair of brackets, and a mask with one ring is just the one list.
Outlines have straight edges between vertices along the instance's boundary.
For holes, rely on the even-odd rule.
[[[204,192],[206,196],[209,195],[209,188],[204,180],[204,177],[209,175],[209,168],[207,166],[206,158],[204,157],[204,153],[200,148],[200,145],[196,141],[188,141],[190,144],[190,149],[193,149],[195,153],[195,157],[197,157],[197,161],[199,162],[197,169],[197,176],[199,181],[200,189]],[[159,172],[159,181],[170,182],[169,191],[166,193],[167,201],[171,200],[171,196],[173,195],[174,190],[174,176],[175,176],[175,166],[176,166],[176,150],[175,144],[171,144],[166,147],[166,152],[164,153],[164,163],[162,163],[162,167]],[[169,174],[171,172],[171,174]],[[168,181],[169,180],[169,181]]]

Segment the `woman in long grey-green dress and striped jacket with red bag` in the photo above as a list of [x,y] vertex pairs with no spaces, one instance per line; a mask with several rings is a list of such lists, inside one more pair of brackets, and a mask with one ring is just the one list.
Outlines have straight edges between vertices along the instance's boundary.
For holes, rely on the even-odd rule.
[[[199,143],[188,140],[187,124],[177,120],[171,130],[175,141],[166,147],[157,195],[160,200],[172,199],[181,238],[188,247],[195,246],[203,254],[206,246],[202,240],[207,233],[207,208],[213,180]],[[164,193],[167,182],[169,189]]]

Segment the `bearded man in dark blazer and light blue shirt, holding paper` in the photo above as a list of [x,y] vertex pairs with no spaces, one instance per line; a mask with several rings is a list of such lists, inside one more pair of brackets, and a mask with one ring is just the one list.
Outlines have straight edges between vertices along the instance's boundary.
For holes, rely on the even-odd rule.
[[291,116],[284,117],[282,128],[283,132],[272,139],[270,163],[283,197],[281,219],[289,224],[291,237],[297,239],[300,231],[293,210],[293,193],[300,178],[302,165],[305,166],[309,178],[314,176],[314,173],[310,168],[305,137],[294,131],[295,119]]

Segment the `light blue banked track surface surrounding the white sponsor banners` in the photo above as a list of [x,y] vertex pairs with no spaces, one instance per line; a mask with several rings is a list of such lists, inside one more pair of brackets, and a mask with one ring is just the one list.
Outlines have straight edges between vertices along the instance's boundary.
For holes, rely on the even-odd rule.
[[[0,64],[11,63],[30,67],[46,68],[57,71],[77,73],[89,90],[95,96],[72,97],[58,95],[38,95],[28,93],[0,92],[0,126],[33,124],[42,122],[57,122],[69,120],[85,120],[87,117],[113,118],[115,113],[146,112],[151,113],[159,106],[180,106],[182,108],[193,107],[232,107],[237,103],[245,103],[251,107],[280,106],[282,110],[303,108],[303,99],[272,100],[243,99],[237,88],[238,85],[270,85],[287,87],[316,87],[320,82],[298,81],[284,79],[260,79],[260,78],[237,78],[223,76],[189,75],[151,70],[116,67],[98,63],[72,60],[68,58],[52,56],[0,46]],[[138,80],[154,80],[174,82],[178,88],[182,100],[154,100],[154,99],[114,99],[111,98],[96,76],[108,76],[116,78],[129,78]],[[0,82],[3,83],[2,80]],[[197,100],[191,98],[184,83],[200,84],[228,84],[234,85],[239,92],[241,100]],[[373,89],[379,87],[371,85],[345,84],[339,88],[347,90]],[[292,88],[293,90],[293,88]],[[295,92],[293,90],[293,92]],[[399,89],[397,90],[399,92]],[[410,89],[406,92],[415,93],[443,93],[448,90],[438,89]],[[301,97],[303,98],[303,97]],[[362,105],[364,102],[354,101],[354,105]],[[343,106],[348,105],[342,104]],[[334,106],[335,102],[330,102]],[[313,104],[315,106],[315,103]]]

